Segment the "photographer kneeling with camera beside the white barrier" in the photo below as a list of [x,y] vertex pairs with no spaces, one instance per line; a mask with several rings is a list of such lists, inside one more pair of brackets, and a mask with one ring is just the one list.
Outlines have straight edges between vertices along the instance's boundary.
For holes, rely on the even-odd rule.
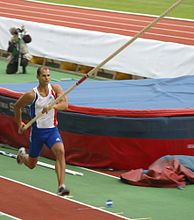
[[22,73],[26,73],[26,67],[32,56],[29,54],[26,44],[32,41],[31,36],[26,32],[24,26],[21,28],[12,27],[9,30],[12,35],[7,51],[10,53],[6,68],[7,74],[16,73],[22,67]]

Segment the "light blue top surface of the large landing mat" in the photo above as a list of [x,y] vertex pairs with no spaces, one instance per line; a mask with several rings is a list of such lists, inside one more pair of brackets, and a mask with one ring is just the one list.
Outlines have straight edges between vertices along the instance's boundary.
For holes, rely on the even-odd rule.
[[[59,84],[64,91],[76,81]],[[36,83],[0,84],[1,87],[25,92]],[[116,109],[194,108],[194,76],[173,79],[85,81],[69,94],[69,103],[78,106]]]

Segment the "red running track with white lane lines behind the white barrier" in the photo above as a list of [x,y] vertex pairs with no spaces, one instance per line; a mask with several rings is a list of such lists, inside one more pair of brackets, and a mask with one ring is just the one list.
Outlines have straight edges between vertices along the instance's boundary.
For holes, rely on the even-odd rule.
[[[0,0],[0,15],[125,36],[134,36],[154,19],[154,17],[145,15],[42,4],[25,0]],[[194,21],[164,18],[142,37],[194,45]]]

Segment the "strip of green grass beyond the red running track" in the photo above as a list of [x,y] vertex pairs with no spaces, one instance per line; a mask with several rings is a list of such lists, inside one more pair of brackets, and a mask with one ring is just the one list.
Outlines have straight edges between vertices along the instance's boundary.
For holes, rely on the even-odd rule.
[[[42,0],[42,2],[43,1],[150,15],[160,15],[164,10],[176,2],[176,0]],[[168,16],[194,19],[194,1],[182,1],[182,3]]]

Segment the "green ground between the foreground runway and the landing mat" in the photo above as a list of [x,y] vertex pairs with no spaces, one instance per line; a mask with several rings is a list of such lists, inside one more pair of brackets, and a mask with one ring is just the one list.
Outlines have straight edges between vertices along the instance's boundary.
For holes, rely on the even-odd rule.
[[[16,154],[16,150],[2,148]],[[54,161],[42,158],[53,164]],[[136,187],[124,184],[119,179],[67,166],[70,170],[82,172],[84,176],[66,174],[66,185],[71,189],[74,200],[105,207],[106,200],[113,200],[112,208],[104,208],[128,218],[150,217],[152,220],[192,220],[194,216],[194,186],[184,190],[176,188]],[[36,167],[29,170],[17,165],[13,158],[0,155],[0,175],[55,193],[57,188],[54,170]]]

